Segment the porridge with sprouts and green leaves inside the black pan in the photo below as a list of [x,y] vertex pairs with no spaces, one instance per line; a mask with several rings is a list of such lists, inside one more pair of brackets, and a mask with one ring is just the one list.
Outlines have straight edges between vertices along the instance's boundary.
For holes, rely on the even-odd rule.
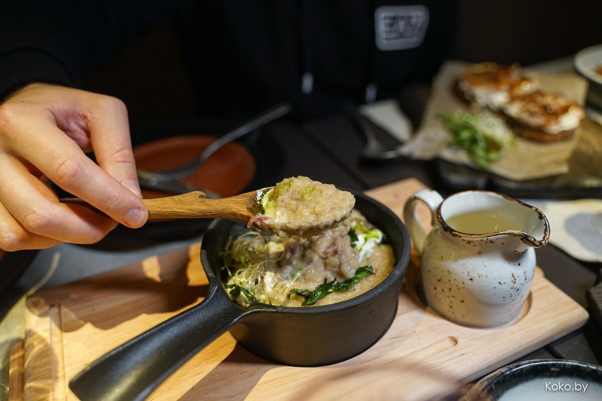
[[393,271],[393,249],[382,241],[382,231],[355,209],[343,224],[317,236],[280,238],[246,231],[226,246],[224,287],[242,307],[344,301]]

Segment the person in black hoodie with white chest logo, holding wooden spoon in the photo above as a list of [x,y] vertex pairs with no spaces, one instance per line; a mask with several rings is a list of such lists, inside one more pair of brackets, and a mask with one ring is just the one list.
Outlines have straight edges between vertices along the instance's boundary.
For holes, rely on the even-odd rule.
[[[82,85],[152,26],[176,28],[203,115],[247,117],[286,101],[308,118],[430,79],[450,47],[456,7],[392,0],[5,3],[0,249],[9,251],[92,243],[117,223],[146,222],[126,106]],[[90,151],[98,165],[85,156]],[[43,176],[111,218],[58,203]]]

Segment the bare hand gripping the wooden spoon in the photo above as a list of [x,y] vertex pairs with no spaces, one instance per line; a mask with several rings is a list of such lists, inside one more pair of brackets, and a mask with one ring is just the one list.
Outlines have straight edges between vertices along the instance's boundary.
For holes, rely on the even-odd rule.
[[[92,150],[98,165],[84,155]],[[45,177],[111,218],[59,203]],[[140,197],[121,100],[29,84],[0,105],[0,249],[94,243],[118,222],[140,227]]]

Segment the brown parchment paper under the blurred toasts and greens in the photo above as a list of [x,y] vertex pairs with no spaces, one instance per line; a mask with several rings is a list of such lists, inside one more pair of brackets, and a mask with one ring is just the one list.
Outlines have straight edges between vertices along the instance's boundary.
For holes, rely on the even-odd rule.
[[[469,65],[461,61],[447,61],[441,67],[433,82],[433,93],[426,105],[421,127],[414,138],[403,146],[405,155],[422,160],[440,157],[455,164],[479,168],[464,150],[448,145],[448,129],[435,117],[456,110],[469,111],[468,106],[452,91],[459,73]],[[524,73],[535,79],[545,91],[563,94],[580,105],[585,102],[588,84],[577,75],[550,75],[528,69],[524,69]],[[577,145],[580,131],[580,128],[577,129],[572,138],[550,144],[539,144],[517,136],[516,145],[507,149],[503,158],[488,171],[517,181],[567,173],[568,160]]]

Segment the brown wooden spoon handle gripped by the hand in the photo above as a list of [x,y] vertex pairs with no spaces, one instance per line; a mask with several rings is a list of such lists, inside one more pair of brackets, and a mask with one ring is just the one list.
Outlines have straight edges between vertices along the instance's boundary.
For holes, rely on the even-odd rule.
[[[270,188],[262,189],[268,191]],[[149,220],[158,219],[201,219],[222,218],[236,220],[245,224],[256,215],[261,214],[261,206],[257,202],[257,192],[251,191],[229,198],[209,199],[200,191],[156,199],[143,199],[149,211]],[[62,198],[61,203],[78,204],[105,214],[101,210],[79,198]]]

